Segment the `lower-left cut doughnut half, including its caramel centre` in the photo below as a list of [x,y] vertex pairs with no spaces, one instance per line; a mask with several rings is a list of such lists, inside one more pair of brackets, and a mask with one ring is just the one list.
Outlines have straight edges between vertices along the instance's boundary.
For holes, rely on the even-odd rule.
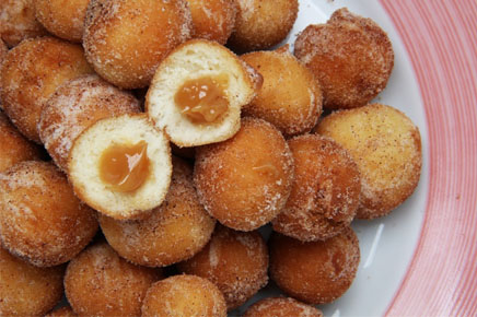
[[73,142],[68,176],[77,196],[114,219],[150,215],[167,193],[171,149],[144,114],[96,121]]

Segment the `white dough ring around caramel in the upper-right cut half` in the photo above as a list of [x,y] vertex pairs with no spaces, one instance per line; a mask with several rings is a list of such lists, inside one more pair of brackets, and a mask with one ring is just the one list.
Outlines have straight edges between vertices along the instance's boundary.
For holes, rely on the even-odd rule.
[[[188,80],[226,74],[229,109],[218,122],[198,125],[181,114],[174,97]],[[155,125],[179,146],[202,145],[232,137],[240,128],[241,107],[254,97],[254,87],[240,60],[225,48],[194,43],[171,54],[159,67],[148,92],[147,108]]]

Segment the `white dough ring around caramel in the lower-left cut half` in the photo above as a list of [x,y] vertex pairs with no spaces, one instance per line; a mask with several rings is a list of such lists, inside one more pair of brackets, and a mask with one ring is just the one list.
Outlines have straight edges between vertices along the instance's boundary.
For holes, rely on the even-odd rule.
[[[113,143],[148,143],[149,176],[132,192],[110,190],[100,177],[102,154]],[[69,174],[74,190],[92,208],[113,218],[135,214],[161,204],[168,189],[172,173],[168,141],[146,116],[121,116],[101,120],[77,139],[71,151]]]

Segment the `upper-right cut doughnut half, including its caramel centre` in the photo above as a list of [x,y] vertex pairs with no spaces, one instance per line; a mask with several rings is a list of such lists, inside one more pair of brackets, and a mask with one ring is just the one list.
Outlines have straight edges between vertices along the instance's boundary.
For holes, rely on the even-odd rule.
[[189,40],[159,66],[146,97],[156,127],[179,146],[220,142],[240,129],[241,107],[261,77],[216,42]]

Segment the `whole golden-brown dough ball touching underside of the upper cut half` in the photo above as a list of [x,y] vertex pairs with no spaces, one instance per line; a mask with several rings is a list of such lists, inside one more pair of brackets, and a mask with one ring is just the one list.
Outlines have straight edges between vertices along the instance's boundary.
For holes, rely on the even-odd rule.
[[284,207],[293,158],[271,124],[244,118],[231,139],[196,149],[194,183],[206,210],[220,223],[252,231]]

